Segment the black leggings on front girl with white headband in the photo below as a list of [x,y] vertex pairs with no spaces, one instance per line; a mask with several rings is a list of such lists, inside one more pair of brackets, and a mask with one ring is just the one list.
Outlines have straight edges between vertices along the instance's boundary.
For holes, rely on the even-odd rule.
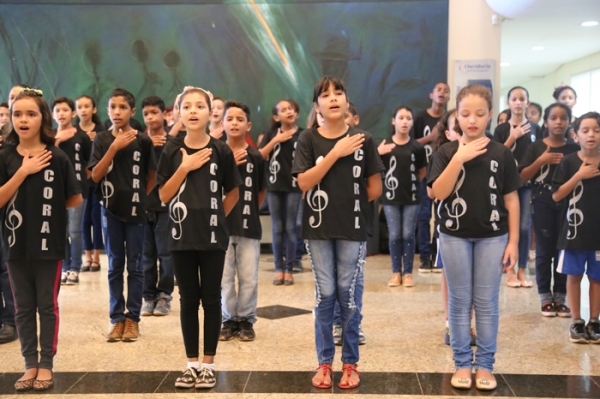
[[221,331],[221,279],[225,251],[172,251],[171,259],[179,286],[181,332],[186,356],[199,357],[200,299],[204,309],[204,355],[214,356]]

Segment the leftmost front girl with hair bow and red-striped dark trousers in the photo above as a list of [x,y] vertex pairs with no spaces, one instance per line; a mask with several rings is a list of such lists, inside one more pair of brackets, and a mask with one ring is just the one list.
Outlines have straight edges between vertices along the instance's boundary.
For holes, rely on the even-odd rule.
[[10,145],[0,155],[0,207],[26,369],[15,389],[45,390],[54,385],[67,208],[81,205],[83,199],[69,158],[54,146],[52,116],[41,92],[23,90],[11,112]]

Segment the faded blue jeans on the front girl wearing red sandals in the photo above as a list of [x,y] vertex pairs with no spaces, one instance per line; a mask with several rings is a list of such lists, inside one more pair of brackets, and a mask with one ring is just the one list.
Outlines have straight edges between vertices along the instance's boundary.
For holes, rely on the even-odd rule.
[[315,341],[319,364],[331,364],[333,309],[336,300],[342,317],[342,362],[358,362],[358,331],[364,291],[367,243],[344,240],[307,240],[315,278]]

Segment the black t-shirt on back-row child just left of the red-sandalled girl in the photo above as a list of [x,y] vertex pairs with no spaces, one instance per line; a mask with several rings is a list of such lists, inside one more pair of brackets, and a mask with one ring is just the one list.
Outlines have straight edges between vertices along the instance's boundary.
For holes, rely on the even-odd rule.
[[[292,177],[292,164],[294,163],[294,154],[298,143],[298,137],[302,128],[298,128],[291,139],[283,143],[275,144],[269,154],[269,168],[267,170],[267,190],[300,192],[298,182]],[[273,137],[277,135],[277,129],[271,129],[265,133],[258,148],[263,148]]]

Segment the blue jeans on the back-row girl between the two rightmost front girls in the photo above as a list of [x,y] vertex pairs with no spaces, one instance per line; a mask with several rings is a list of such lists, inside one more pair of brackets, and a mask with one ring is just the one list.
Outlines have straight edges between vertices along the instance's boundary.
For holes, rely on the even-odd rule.
[[419,205],[384,205],[383,211],[390,235],[392,273],[411,274],[415,258],[415,229]]

